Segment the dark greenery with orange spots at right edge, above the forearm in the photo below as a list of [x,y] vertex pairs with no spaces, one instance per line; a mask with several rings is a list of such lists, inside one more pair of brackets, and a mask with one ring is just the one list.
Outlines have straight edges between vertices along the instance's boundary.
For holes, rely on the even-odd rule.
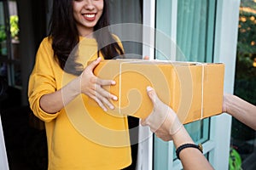
[[256,13],[241,11],[239,19],[235,94],[256,105]]

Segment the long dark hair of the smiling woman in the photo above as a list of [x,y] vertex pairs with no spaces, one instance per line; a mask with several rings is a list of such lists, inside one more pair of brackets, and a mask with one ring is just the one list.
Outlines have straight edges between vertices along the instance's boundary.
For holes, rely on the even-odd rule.
[[[104,8],[102,16],[94,27],[94,37],[98,45],[98,52],[102,53],[104,59],[113,59],[120,54],[124,54],[122,48],[114,40],[112,34],[108,29],[102,29],[109,26],[108,19],[108,3],[103,0]],[[71,56],[73,48],[79,43],[79,31],[76,22],[73,18],[73,0],[54,0],[52,15],[49,23],[49,37],[52,38],[52,48],[54,50],[54,57],[58,61],[61,69],[79,75],[83,71],[82,65],[75,62],[76,57]],[[65,67],[68,59],[68,67]]]

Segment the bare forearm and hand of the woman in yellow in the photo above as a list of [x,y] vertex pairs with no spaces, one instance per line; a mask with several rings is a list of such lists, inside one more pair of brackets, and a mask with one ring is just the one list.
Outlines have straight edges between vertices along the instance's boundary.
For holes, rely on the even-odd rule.
[[55,113],[60,111],[79,94],[86,94],[90,98],[96,100],[98,105],[100,105],[104,111],[107,111],[106,106],[113,109],[113,105],[109,100],[117,100],[117,97],[113,94],[109,94],[108,91],[102,88],[102,86],[111,86],[114,85],[115,82],[112,80],[102,80],[93,74],[94,68],[100,61],[101,58],[93,61],[85,68],[79,77],[73,79],[72,82],[67,83],[65,87],[54,93],[44,94],[40,99],[41,109],[48,113]]

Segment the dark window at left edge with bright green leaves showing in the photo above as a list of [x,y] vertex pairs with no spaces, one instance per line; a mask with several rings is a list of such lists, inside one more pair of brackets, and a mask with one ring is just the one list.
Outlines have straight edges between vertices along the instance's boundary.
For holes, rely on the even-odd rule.
[[19,17],[15,1],[0,1],[0,76],[9,86],[21,88]]

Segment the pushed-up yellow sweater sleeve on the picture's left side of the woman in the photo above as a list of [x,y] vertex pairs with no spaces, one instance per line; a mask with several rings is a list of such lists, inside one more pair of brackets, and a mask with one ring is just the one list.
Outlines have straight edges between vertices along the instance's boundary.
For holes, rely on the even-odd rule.
[[40,107],[40,99],[44,94],[51,94],[56,91],[55,74],[53,66],[53,50],[51,41],[46,37],[41,42],[32,74],[29,77],[28,99],[30,107],[35,116],[44,122],[50,122],[59,115],[59,112],[50,114]]

